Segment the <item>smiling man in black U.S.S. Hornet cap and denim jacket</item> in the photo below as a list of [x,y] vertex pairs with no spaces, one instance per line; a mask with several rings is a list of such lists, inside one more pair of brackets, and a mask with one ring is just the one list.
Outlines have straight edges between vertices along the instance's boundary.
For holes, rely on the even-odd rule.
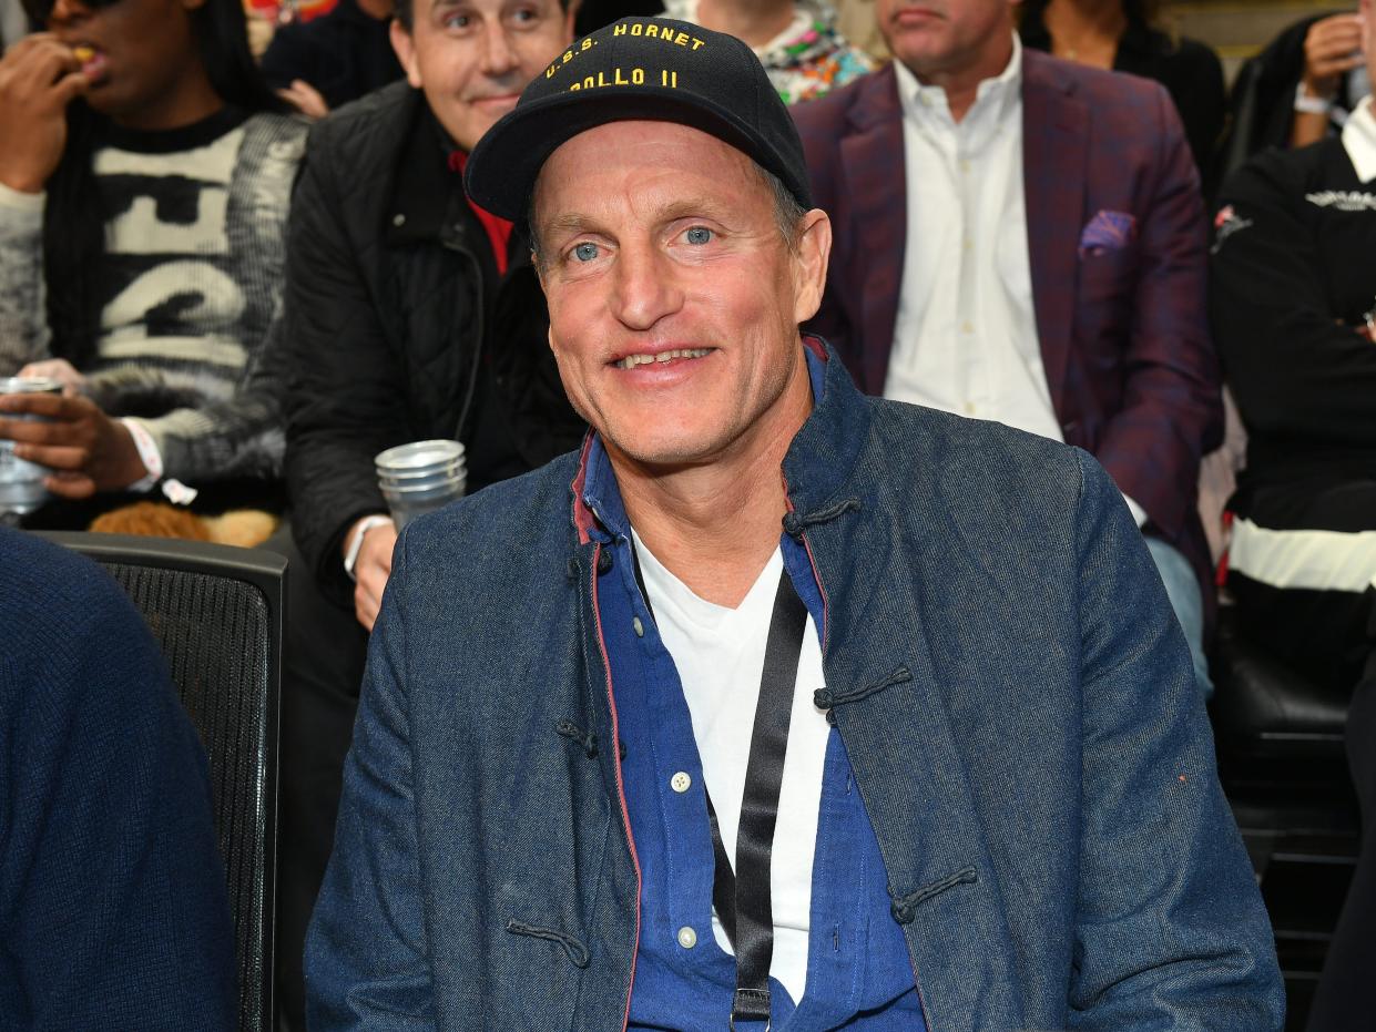
[[749,48],[593,33],[468,182],[593,432],[399,541],[311,1028],[1280,1028],[1120,494],[799,334],[831,226]]

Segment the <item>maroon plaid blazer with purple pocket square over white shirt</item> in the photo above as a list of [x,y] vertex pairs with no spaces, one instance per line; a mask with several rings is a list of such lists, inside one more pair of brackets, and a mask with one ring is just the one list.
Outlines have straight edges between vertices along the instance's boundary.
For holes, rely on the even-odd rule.
[[[893,67],[793,114],[835,235],[806,329],[882,394],[907,235]],[[1223,410],[1208,223],[1179,116],[1156,83],[1024,51],[1022,135],[1033,307],[1061,431],[1146,509],[1148,533],[1185,552],[1211,599],[1196,493]]]

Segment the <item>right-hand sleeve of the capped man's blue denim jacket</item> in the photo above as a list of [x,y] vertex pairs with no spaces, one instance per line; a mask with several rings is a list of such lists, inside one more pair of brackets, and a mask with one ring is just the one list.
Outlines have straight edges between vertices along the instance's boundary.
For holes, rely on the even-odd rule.
[[1068,1024],[1276,1032],[1271,929],[1185,637],[1115,484],[1076,455],[1083,802]]

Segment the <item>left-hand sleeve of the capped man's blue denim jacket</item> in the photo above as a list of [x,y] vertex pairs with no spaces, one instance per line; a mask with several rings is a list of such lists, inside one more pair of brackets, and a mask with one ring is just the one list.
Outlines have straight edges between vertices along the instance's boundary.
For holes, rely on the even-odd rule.
[[369,641],[334,850],[305,937],[312,1032],[436,1026],[406,695],[407,535]]

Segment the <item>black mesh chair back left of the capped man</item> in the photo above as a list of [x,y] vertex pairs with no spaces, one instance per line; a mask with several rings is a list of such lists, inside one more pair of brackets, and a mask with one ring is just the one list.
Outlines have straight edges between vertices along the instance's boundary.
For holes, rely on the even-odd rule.
[[230,889],[239,1031],[271,1032],[277,727],[286,560],[259,549],[50,533],[103,566],[162,647],[211,764]]

